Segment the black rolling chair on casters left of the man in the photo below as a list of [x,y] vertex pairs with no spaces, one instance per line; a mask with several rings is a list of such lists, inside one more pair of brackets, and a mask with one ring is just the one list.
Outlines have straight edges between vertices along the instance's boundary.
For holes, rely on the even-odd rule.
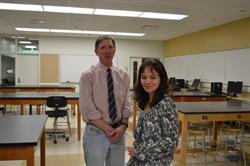
[[[68,133],[71,136],[71,128],[68,114],[69,109],[66,107],[67,99],[63,96],[50,96],[47,98],[46,105],[47,107],[53,108],[53,110],[45,111],[45,114],[47,114],[48,117],[54,118],[52,130],[47,130],[46,133],[49,136],[53,136],[55,144],[57,143],[58,135],[63,135],[66,138],[66,141],[69,141],[69,136],[66,136],[66,131],[58,128],[58,126],[65,126],[66,123]],[[66,118],[66,122],[59,122],[58,118]]]

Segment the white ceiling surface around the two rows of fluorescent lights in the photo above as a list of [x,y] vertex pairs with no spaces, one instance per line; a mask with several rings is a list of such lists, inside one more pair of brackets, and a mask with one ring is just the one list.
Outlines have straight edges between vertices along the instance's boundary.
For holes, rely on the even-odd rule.
[[[167,40],[250,17],[250,0],[0,0],[0,2],[137,10],[189,15],[189,17],[183,20],[173,21],[0,10],[0,34],[32,36],[91,37],[94,35],[18,32],[15,30],[15,27],[137,32],[146,33],[146,35],[143,37],[120,38]],[[40,24],[38,20],[44,20],[46,23]],[[145,28],[147,26],[149,28]]]

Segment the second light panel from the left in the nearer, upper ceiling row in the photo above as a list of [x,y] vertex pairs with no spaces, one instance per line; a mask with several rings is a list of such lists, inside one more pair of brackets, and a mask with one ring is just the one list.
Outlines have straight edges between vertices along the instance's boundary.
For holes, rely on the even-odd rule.
[[43,6],[45,12],[55,13],[75,13],[75,14],[92,14],[92,8],[78,8],[78,7],[63,7],[63,6]]

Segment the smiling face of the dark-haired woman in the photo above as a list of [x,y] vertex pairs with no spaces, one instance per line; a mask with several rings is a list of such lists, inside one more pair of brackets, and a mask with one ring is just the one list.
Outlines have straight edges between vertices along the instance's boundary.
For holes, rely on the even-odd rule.
[[153,97],[161,82],[159,74],[151,67],[146,67],[140,79],[144,90],[149,93],[150,97]]

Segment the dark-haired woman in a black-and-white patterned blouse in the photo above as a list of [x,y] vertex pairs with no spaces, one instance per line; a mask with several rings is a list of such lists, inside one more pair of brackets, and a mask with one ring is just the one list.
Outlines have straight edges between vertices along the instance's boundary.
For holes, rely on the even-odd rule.
[[128,166],[168,166],[178,145],[178,114],[168,94],[168,77],[157,59],[139,69],[135,98],[140,108]]

